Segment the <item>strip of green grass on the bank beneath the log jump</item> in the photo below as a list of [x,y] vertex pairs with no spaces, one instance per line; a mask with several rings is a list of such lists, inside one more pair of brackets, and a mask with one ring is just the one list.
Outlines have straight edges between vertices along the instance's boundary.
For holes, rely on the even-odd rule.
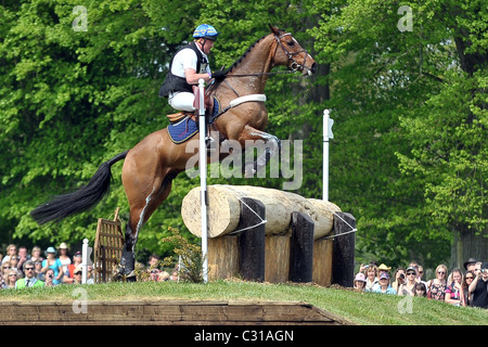
[[[110,283],[82,287],[86,288],[89,300],[293,300],[306,301],[352,323],[364,325],[488,324],[488,310],[484,309],[453,307],[413,297],[409,310],[404,297],[313,285],[216,281],[207,284]],[[74,288],[73,285],[61,285],[50,288],[0,291],[0,300],[69,301],[79,299],[79,296],[74,294]]]

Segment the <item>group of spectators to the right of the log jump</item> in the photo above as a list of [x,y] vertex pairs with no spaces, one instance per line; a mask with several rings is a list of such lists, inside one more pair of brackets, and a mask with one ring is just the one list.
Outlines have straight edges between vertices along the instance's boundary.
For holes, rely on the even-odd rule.
[[424,296],[454,306],[488,309],[488,262],[470,258],[464,269],[449,272],[441,264],[435,270],[435,278],[424,281],[424,268],[416,262],[397,268],[391,277],[391,268],[384,264],[361,264],[354,286],[361,292]]

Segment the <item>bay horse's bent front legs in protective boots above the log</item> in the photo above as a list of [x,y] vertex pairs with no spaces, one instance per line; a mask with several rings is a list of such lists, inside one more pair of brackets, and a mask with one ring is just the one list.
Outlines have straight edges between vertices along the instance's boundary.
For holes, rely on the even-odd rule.
[[258,172],[259,169],[264,168],[270,158],[280,151],[280,140],[275,136],[249,126],[244,127],[239,141],[243,147],[258,149],[256,160],[246,162],[243,166],[243,174],[246,178],[254,177],[254,175]]

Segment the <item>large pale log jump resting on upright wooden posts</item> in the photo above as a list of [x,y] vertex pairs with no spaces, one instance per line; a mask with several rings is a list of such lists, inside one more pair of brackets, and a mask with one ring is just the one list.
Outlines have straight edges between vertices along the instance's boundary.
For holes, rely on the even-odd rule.
[[[207,202],[209,279],[352,285],[354,233],[341,237],[348,246],[337,254],[333,273],[334,248],[343,241],[331,235],[356,226],[337,205],[274,189],[220,184],[207,188]],[[181,215],[201,237],[200,188],[183,198]],[[343,215],[350,216],[347,226]]]

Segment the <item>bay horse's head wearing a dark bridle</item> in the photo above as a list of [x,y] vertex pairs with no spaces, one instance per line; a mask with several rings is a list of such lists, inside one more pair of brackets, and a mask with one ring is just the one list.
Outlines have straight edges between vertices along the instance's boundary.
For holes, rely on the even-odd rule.
[[316,61],[308,54],[307,50],[301,48],[292,34],[271,25],[269,27],[278,43],[274,50],[274,64],[285,65],[292,70],[301,72],[304,75],[310,76],[313,74],[317,69]]

